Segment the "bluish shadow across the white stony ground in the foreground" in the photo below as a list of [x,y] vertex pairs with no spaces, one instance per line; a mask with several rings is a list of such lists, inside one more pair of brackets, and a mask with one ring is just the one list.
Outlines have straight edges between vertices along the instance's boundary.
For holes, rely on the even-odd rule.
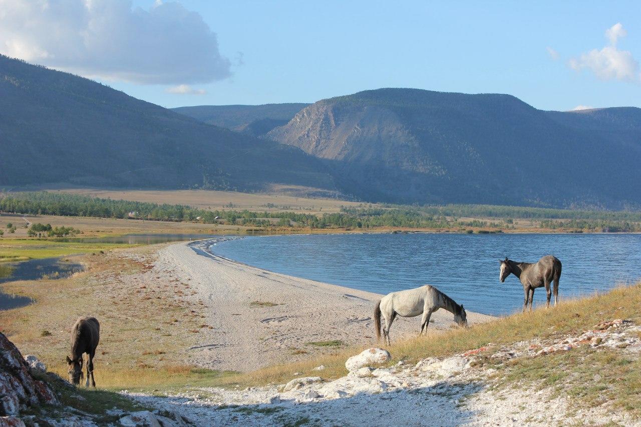
[[[272,403],[260,405],[215,405],[179,397],[139,399],[145,405],[176,410],[192,418],[196,424],[217,426],[452,426],[472,418],[474,413],[465,408],[465,399],[483,387],[485,384],[480,381],[441,381],[429,387],[394,389],[374,394],[358,392],[353,396],[331,400],[314,399],[297,403],[293,396],[290,399],[272,398]],[[300,390],[299,397],[304,392]],[[251,390],[247,390],[242,394],[247,396],[251,393]],[[229,401],[229,396],[225,399],[216,396],[219,395],[217,392],[213,394],[214,401],[219,398]]]

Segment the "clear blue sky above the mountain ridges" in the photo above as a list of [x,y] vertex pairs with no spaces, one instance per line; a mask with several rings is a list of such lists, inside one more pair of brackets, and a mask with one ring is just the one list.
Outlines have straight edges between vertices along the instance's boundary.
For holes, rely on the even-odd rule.
[[[380,87],[507,93],[545,110],[641,106],[638,1],[179,3],[217,35],[220,58],[212,67],[228,65],[214,81],[187,76],[154,84],[126,70],[105,78],[95,72],[102,62],[86,73],[78,62],[58,68],[169,107],[313,102]],[[129,7],[147,11],[154,1]],[[617,23],[613,38],[606,37]],[[189,37],[172,40],[187,49],[186,62],[198,61],[199,51],[188,51],[198,40]],[[603,63],[610,54],[622,61],[615,69]],[[163,60],[171,62],[176,51],[169,56]],[[174,63],[179,68],[181,60]]]

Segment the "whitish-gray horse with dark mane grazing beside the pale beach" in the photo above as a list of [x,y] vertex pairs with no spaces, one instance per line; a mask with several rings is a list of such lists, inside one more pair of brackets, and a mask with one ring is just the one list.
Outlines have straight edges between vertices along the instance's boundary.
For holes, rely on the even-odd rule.
[[420,333],[428,332],[429,316],[439,308],[445,308],[448,312],[454,314],[454,322],[458,326],[467,326],[467,314],[463,305],[458,305],[449,296],[430,285],[424,285],[420,288],[401,290],[392,292],[379,299],[374,307],[374,325],[376,328],[376,339],[381,339],[381,315],[385,319],[383,326],[383,340],[390,342],[390,326],[396,318],[415,317],[422,314],[420,319]]

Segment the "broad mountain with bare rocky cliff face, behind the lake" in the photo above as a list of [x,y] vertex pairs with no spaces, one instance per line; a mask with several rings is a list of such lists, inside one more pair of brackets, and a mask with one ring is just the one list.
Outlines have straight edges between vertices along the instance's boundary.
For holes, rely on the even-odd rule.
[[510,95],[385,88],[318,101],[265,138],[369,200],[641,206],[639,108],[545,112]]

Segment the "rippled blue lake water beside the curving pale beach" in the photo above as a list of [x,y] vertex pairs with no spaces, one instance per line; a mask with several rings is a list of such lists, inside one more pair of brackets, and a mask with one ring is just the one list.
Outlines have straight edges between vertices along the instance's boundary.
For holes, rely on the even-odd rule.
[[[247,237],[211,247],[216,255],[270,271],[387,294],[429,283],[485,314],[520,310],[515,276],[499,282],[499,258],[563,264],[560,298],[641,278],[639,234],[362,234]],[[535,291],[545,303],[545,289]]]

